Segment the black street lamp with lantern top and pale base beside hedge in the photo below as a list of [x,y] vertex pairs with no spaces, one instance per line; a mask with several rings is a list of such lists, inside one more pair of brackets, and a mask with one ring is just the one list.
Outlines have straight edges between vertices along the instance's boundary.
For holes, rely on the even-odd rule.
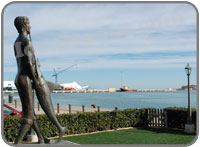
[[185,131],[192,132],[194,131],[194,125],[192,124],[192,113],[190,108],[190,73],[191,73],[191,66],[189,63],[185,67],[185,72],[188,77],[188,114],[187,114],[187,123],[185,124]]

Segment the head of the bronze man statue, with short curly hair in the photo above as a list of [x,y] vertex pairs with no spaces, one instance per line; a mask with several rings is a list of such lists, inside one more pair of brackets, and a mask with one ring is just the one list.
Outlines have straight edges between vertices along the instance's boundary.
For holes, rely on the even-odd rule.
[[14,24],[19,33],[27,32],[27,34],[30,34],[31,27],[28,17],[18,16],[15,18]]

